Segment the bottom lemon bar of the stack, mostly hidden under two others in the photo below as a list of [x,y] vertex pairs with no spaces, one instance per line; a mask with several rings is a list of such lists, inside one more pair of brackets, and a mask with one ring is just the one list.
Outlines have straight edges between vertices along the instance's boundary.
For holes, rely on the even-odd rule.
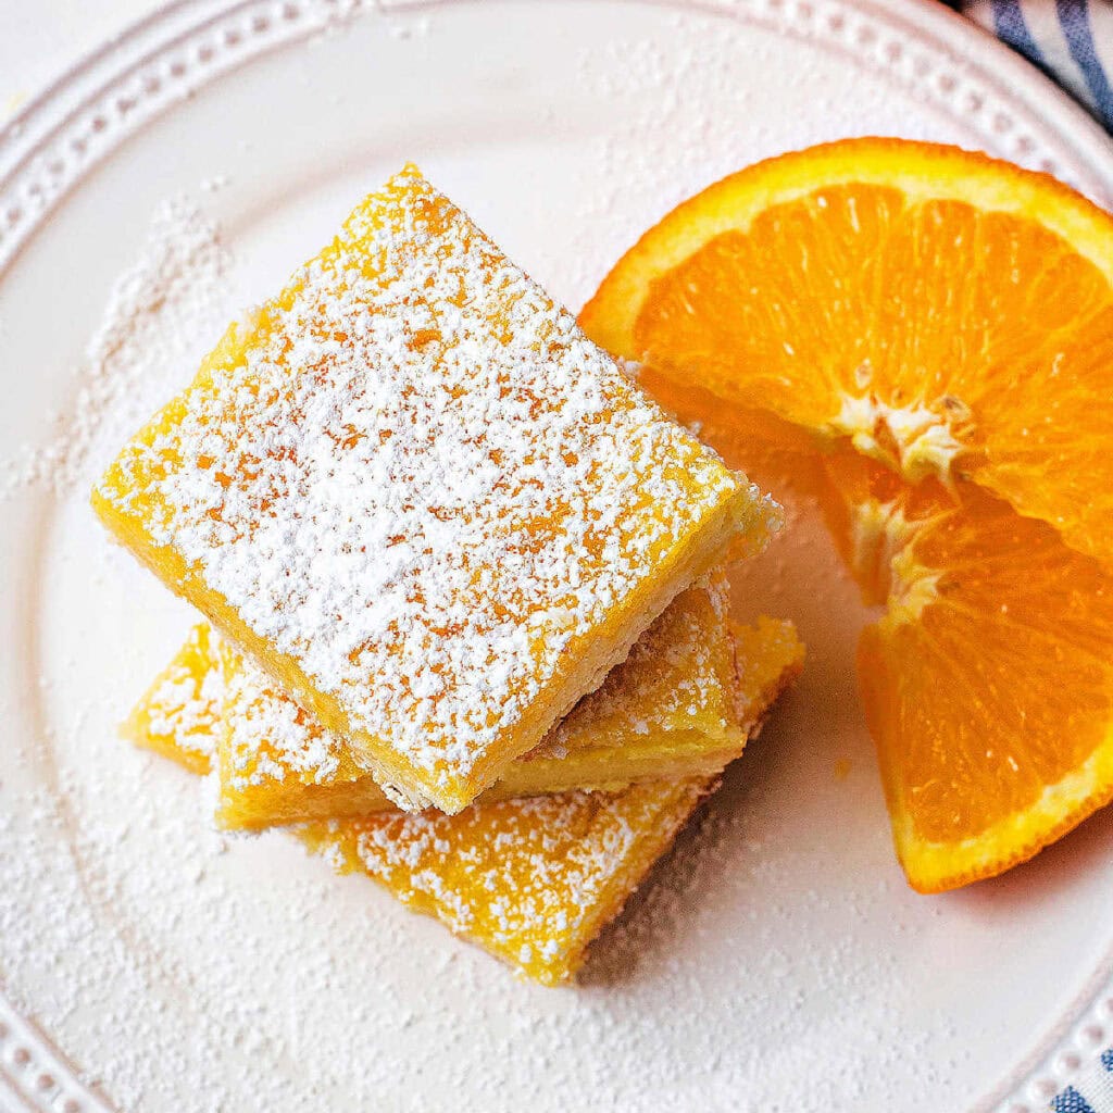
[[[755,733],[804,660],[789,622],[736,630],[736,715]],[[173,677],[168,670],[166,678]],[[164,678],[160,678],[160,680]],[[218,703],[200,684],[156,682],[129,720],[134,740],[196,770]],[[154,728],[145,738],[142,729]],[[567,981],[588,945],[668,849],[716,776],[482,801],[455,816],[381,811],[293,828],[344,873],[362,873],[416,912],[544,985]]]

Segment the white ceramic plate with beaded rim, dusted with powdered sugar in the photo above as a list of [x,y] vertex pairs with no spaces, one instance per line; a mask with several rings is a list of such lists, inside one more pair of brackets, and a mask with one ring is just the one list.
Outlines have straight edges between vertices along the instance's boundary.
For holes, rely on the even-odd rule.
[[[115,737],[189,613],[87,483],[364,191],[416,159],[577,306],[698,187],[869,132],[1113,199],[1096,127],[927,3],[178,3],[0,135],[0,1106],[1021,1111],[1113,1040],[1113,817],[906,888],[863,615],[807,508],[739,604],[797,620],[805,677],[580,988],[518,984],[280,836],[225,844],[197,784]],[[162,258],[166,304],[90,367],[174,196],[230,257],[199,233]]]

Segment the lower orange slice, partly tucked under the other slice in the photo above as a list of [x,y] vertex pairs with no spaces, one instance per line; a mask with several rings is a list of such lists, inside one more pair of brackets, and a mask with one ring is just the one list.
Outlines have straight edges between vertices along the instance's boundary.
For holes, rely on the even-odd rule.
[[909,879],[1031,857],[1113,795],[1113,584],[972,484],[956,503],[851,452],[828,469],[836,536],[887,602],[859,680]]

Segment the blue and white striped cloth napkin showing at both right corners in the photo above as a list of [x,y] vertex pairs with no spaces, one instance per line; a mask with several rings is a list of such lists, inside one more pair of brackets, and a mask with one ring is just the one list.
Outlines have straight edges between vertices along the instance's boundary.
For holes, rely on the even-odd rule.
[[[1020,51],[1113,132],[1113,0],[951,0]],[[1054,1113],[1113,1113],[1113,1047],[1048,1103]]]

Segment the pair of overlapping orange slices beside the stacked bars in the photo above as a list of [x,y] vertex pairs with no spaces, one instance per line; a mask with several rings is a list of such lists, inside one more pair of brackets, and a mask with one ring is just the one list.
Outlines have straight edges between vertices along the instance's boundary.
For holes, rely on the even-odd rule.
[[732,463],[819,493],[885,608],[859,677],[914,887],[1113,796],[1113,219],[982,156],[847,140],[681,205],[581,321]]

